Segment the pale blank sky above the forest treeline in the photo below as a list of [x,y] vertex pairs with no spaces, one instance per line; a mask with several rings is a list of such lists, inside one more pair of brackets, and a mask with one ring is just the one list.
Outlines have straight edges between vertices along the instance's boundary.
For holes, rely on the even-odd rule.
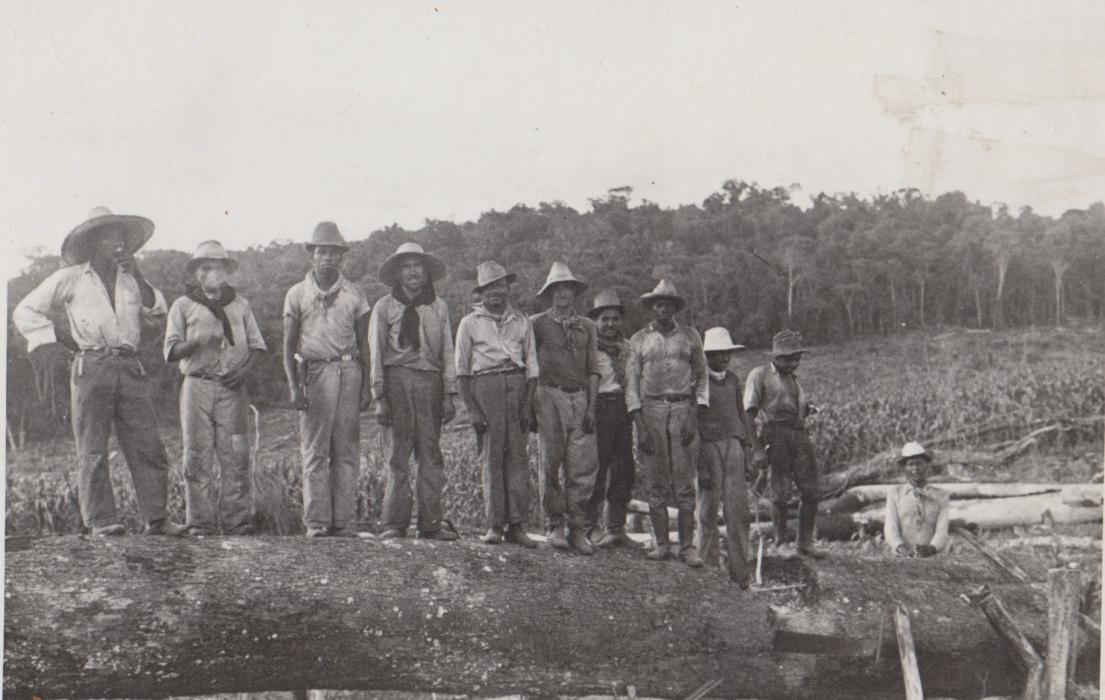
[[1105,198],[1105,3],[0,0],[0,271],[103,205],[150,248],[350,240],[730,178]]

